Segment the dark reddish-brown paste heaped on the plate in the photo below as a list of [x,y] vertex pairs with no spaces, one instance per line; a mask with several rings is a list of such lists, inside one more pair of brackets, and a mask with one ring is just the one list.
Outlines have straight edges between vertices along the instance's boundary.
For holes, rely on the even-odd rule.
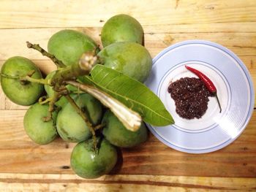
[[186,119],[201,118],[206,113],[208,97],[214,96],[203,81],[195,77],[182,77],[171,82],[168,93],[175,101],[178,115]]

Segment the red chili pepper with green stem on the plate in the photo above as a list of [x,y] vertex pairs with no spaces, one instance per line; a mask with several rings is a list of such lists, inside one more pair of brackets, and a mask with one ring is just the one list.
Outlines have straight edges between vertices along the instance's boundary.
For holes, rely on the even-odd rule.
[[211,93],[214,93],[214,96],[216,96],[218,104],[219,104],[219,112],[222,112],[222,107],[220,106],[219,103],[219,98],[217,96],[217,88],[215,87],[214,83],[206,76],[206,74],[203,74],[202,72],[199,72],[197,69],[194,69],[190,66],[186,66],[185,67],[192,73],[196,74],[197,77],[200,78],[200,80],[202,80],[205,85],[206,88],[208,88],[208,91],[210,91]]

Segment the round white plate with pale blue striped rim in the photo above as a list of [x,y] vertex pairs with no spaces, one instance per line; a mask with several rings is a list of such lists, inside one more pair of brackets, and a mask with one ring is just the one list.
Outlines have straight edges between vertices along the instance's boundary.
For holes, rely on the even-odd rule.
[[[252,79],[243,62],[222,45],[204,40],[189,40],[167,47],[153,60],[146,85],[159,96],[175,124],[148,125],[161,142],[186,153],[209,153],[233,142],[246,128],[254,107]],[[181,77],[196,77],[185,65],[206,74],[217,87],[222,106],[210,97],[208,110],[200,119],[180,118],[167,87]]]

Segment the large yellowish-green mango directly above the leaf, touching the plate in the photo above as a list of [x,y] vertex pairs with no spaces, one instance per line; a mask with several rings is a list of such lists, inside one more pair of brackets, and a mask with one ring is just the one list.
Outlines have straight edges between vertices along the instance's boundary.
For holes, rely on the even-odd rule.
[[152,58],[145,47],[135,42],[116,42],[99,53],[105,66],[144,82],[152,68]]

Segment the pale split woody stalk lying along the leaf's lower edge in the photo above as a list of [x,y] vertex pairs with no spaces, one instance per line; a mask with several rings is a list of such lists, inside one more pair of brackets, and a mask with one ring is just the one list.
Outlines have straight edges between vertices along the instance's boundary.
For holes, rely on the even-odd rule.
[[67,81],[67,84],[80,88],[80,90],[86,91],[96,99],[99,99],[105,107],[110,108],[128,130],[137,131],[140,128],[142,119],[138,112],[130,110],[120,101],[113,99],[112,96],[91,85],[80,84],[75,81]]

